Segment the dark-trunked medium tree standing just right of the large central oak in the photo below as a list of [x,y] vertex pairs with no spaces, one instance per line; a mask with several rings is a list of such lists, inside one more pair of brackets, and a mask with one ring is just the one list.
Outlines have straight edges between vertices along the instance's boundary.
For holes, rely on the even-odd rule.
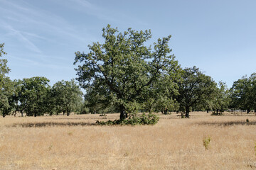
[[208,100],[212,100],[216,84],[196,67],[183,69],[181,77],[183,81],[178,82],[177,101],[180,103],[180,110],[189,118],[192,106],[203,106]]

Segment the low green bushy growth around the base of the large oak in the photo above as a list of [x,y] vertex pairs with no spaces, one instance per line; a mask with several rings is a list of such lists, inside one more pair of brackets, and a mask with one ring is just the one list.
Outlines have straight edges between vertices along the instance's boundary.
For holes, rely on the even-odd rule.
[[108,120],[108,121],[96,121],[97,125],[155,125],[159,121],[157,115],[149,113],[146,115],[132,114],[128,119],[124,120]]

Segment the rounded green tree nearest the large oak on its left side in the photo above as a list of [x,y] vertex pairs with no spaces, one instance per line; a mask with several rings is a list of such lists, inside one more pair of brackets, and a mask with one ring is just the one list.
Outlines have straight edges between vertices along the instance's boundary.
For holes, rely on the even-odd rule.
[[71,81],[58,81],[53,85],[53,96],[58,113],[63,112],[70,115],[72,111],[80,110],[82,105],[82,91],[80,87]]

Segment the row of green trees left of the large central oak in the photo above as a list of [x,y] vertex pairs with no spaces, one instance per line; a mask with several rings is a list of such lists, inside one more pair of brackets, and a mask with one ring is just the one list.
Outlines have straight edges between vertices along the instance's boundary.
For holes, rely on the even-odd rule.
[[[0,44],[0,57],[6,55]],[[80,86],[71,81],[58,81],[49,85],[46,77],[24,78],[11,81],[7,60],[0,59],[0,115],[38,116],[71,112],[80,113],[83,99]]]

